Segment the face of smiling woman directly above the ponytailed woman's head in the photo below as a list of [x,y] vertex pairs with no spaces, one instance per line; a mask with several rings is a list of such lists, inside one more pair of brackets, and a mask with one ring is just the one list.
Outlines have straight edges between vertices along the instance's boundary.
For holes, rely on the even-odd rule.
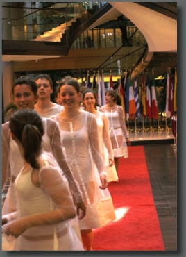
[[16,85],[14,88],[14,103],[18,110],[34,109],[36,97],[31,90],[31,86],[27,84]]

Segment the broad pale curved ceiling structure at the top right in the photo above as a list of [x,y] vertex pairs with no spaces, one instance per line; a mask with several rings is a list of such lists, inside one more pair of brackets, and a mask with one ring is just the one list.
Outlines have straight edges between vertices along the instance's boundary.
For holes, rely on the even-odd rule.
[[177,52],[177,21],[133,2],[109,2],[140,29],[149,52]]

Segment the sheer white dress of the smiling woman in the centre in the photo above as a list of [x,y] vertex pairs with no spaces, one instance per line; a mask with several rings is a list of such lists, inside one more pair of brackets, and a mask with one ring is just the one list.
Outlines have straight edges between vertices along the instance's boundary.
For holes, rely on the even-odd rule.
[[[80,229],[95,229],[115,219],[115,211],[107,208],[99,176],[105,174],[104,160],[99,149],[96,118],[92,113],[81,111],[74,122],[64,122],[59,115],[50,117],[60,126],[62,145],[67,161],[78,181],[86,204],[86,215],[79,221]],[[93,162],[97,171],[94,169]]]

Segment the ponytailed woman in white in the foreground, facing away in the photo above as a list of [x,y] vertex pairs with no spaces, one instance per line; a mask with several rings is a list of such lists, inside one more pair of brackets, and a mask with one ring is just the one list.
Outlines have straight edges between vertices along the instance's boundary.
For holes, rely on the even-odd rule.
[[67,179],[42,149],[42,118],[35,110],[17,110],[9,127],[24,166],[15,179],[16,211],[2,217],[3,234],[16,238],[15,251],[82,251],[69,222],[76,209]]

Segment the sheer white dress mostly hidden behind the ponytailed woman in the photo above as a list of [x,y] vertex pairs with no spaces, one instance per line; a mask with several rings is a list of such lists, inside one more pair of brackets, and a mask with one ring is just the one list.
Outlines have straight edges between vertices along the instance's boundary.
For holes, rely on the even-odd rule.
[[[44,151],[51,152],[58,161],[60,169],[67,177],[71,191],[74,193],[76,202],[83,201],[83,194],[77,181],[74,179],[64,152],[62,151],[60,130],[58,124],[51,119],[43,118],[44,135],[42,147]],[[10,213],[16,208],[14,181],[23,167],[22,156],[14,140],[10,138],[9,122],[2,125],[2,172],[7,174],[10,169],[10,186],[3,204],[2,214]]]

